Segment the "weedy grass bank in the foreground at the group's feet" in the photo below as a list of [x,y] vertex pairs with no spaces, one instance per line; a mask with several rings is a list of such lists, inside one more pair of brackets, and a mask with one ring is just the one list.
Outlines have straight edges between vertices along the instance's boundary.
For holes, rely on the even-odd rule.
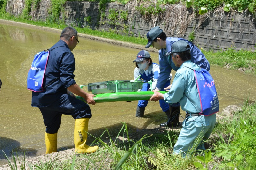
[[[21,169],[25,169],[27,165],[28,169],[59,170],[112,170],[120,167],[127,170],[255,169],[256,103],[248,104],[248,101],[245,101],[241,111],[231,117],[222,116],[217,119],[212,136],[207,141],[206,152],[196,152],[195,148],[192,148],[191,156],[185,158],[172,154],[179,135],[178,129],[151,129],[140,133],[139,136],[138,133],[129,134],[124,123],[117,137],[112,137],[106,129],[105,134],[108,134],[109,140],[105,141],[105,137],[97,139],[95,144],[100,146],[100,150],[95,153],[73,154],[67,157],[60,153],[56,157],[50,154],[45,160],[37,160],[37,163],[22,160],[20,166]],[[19,166],[19,163],[14,164],[14,160],[15,157],[9,160],[12,169]]]

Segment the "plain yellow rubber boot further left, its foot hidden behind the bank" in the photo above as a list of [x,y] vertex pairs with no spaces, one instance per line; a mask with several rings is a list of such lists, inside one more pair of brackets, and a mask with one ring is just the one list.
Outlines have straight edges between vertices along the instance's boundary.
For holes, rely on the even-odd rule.
[[52,153],[52,152],[57,152],[57,133],[46,133],[45,132],[45,145],[46,145],[46,152],[47,153]]

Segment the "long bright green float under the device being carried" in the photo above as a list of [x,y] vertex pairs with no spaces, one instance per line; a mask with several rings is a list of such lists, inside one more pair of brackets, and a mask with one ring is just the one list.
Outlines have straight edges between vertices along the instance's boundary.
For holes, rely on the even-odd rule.
[[[159,92],[162,94],[167,93],[165,91],[159,91]],[[93,99],[96,103],[114,102],[114,101],[149,100],[153,94],[154,92],[151,92],[151,91],[103,93],[103,94],[96,94],[96,96],[93,97]],[[84,98],[80,96],[77,96],[76,98],[86,102]]]

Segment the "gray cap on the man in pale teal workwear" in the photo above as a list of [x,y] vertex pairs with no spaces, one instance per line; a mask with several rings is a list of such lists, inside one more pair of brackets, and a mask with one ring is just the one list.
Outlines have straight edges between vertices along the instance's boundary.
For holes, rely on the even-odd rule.
[[190,50],[190,46],[187,41],[178,40],[172,43],[171,51],[164,54],[164,56],[171,55],[172,53],[180,53]]

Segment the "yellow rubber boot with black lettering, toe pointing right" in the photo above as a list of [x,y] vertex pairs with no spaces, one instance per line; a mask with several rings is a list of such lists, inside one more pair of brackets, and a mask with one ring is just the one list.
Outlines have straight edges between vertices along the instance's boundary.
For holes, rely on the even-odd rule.
[[74,143],[75,152],[93,153],[99,149],[98,146],[86,145],[89,118],[75,119]]

